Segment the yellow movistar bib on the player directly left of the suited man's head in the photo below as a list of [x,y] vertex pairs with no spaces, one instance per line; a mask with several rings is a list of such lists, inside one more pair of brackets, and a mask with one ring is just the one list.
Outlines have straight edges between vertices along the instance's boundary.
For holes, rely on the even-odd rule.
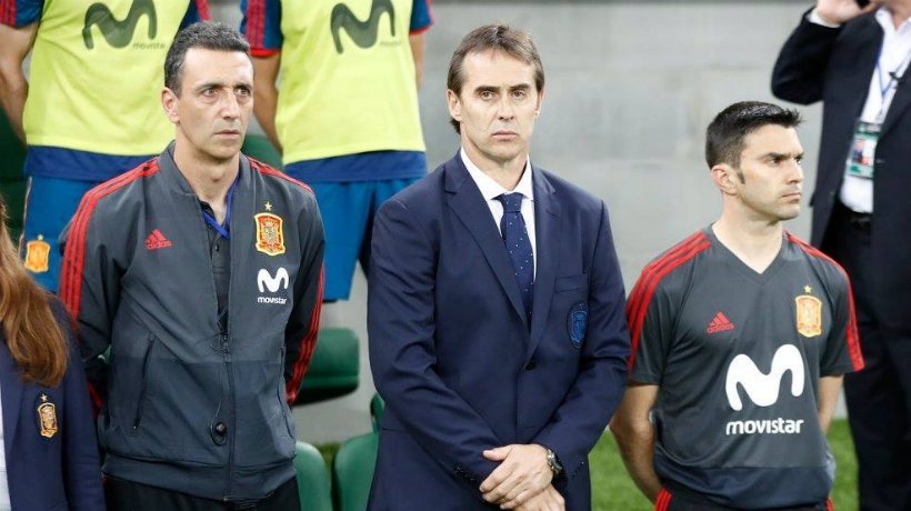
[[412,0],[281,2],[276,129],[284,163],[423,151]]

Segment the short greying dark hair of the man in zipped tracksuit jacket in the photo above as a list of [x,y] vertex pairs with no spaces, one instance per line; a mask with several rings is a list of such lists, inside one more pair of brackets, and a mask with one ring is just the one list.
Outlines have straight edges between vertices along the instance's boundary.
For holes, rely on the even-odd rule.
[[178,32],[164,58],[164,87],[180,97],[183,61],[191,48],[216,51],[238,51],[250,54],[250,44],[236,29],[216,21],[200,21]]

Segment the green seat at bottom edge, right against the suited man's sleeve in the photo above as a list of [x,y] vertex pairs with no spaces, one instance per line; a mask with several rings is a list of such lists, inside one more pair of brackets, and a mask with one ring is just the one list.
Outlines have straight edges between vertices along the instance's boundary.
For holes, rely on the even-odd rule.
[[336,511],[364,511],[377,465],[380,433],[354,437],[341,444],[332,460],[332,502]]

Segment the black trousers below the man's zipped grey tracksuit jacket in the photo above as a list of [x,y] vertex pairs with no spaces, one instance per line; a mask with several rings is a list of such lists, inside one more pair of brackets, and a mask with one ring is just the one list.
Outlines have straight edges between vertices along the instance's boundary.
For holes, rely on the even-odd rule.
[[222,502],[121,479],[104,481],[108,511],[300,511],[298,481],[291,478],[260,500]]

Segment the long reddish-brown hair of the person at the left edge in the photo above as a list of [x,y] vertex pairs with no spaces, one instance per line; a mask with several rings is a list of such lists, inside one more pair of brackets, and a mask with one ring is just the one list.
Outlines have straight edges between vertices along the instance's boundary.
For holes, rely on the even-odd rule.
[[26,271],[7,231],[0,197],[0,322],[26,381],[57,387],[67,372],[68,345],[51,311],[51,295]]

